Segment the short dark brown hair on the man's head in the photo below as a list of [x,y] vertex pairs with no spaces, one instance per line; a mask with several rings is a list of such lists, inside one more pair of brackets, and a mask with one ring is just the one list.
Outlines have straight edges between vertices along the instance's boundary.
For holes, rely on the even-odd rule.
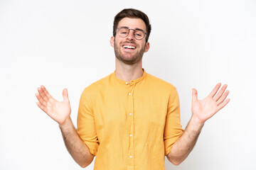
[[151,25],[149,23],[149,18],[146,16],[146,14],[142,11],[139,11],[134,8],[124,8],[122,11],[117,13],[117,15],[114,17],[114,25],[113,25],[113,36],[117,34],[117,25],[119,21],[122,20],[122,18],[141,18],[144,23],[146,24],[146,42],[149,40],[149,35],[151,32]]

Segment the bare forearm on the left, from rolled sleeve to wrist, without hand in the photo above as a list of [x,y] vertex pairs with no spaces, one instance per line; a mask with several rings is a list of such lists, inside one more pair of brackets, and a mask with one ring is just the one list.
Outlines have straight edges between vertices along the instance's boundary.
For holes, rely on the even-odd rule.
[[63,135],[65,146],[75,162],[82,167],[88,166],[92,162],[94,156],[90,154],[88,147],[80,139],[72,120],[68,118],[63,125],[59,126]]

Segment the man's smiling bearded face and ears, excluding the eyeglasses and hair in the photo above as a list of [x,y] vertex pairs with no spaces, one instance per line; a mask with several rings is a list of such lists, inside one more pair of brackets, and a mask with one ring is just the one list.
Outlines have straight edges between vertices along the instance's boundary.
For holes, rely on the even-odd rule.
[[[146,25],[140,18],[122,18],[117,28],[127,27],[132,29],[142,29],[146,33]],[[120,62],[125,64],[136,64],[142,60],[144,52],[149,50],[149,42],[146,42],[146,36],[142,40],[134,38],[134,30],[129,30],[129,35],[122,38],[116,33],[115,37],[110,39],[110,44],[114,47],[114,54]]]

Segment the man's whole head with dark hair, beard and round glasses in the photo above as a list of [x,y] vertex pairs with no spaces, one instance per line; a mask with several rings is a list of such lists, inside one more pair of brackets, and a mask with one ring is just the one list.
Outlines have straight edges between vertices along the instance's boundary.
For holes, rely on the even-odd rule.
[[144,52],[149,50],[151,26],[149,18],[142,11],[124,9],[114,17],[113,36],[110,44],[116,58],[124,64],[142,62]]

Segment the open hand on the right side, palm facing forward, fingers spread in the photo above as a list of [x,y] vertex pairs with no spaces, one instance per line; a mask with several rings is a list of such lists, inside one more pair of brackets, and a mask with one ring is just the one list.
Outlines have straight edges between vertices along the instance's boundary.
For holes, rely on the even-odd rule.
[[[227,85],[225,84],[221,89],[220,86],[220,83],[217,84],[213,91],[211,91],[203,100],[198,100],[197,91],[196,89],[193,89],[191,110],[193,116],[196,116],[201,123],[205,123],[206,120],[215,115],[215,113],[220,111],[220,109],[226,106],[230,101],[229,98],[225,100],[229,93],[229,91],[225,91],[225,89],[227,89]],[[220,89],[220,91],[218,91],[218,89]]]

